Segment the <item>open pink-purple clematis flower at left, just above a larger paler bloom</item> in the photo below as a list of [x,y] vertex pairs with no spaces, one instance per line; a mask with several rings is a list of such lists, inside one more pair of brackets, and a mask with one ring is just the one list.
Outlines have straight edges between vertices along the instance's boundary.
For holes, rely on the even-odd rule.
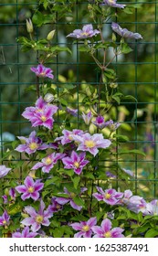
[[16,191],[20,194],[23,194],[21,196],[22,200],[25,201],[27,198],[32,198],[35,201],[39,198],[39,193],[43,187],[44,184],[40,182],[40,179],[37,179],[35,182],[31,176],[26,176],[26,179],[24,181],[25,185],[20,185],[16,187]]

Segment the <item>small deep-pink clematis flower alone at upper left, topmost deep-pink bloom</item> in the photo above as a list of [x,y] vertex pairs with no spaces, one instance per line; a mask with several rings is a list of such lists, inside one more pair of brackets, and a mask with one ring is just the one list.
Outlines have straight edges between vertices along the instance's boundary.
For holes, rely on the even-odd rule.
[[37,65],[37,68],[32,67],[31,71],[33,71],[39,78],[54,79],[54,75],[52,74],[53,70],[46,68],[42,64]]

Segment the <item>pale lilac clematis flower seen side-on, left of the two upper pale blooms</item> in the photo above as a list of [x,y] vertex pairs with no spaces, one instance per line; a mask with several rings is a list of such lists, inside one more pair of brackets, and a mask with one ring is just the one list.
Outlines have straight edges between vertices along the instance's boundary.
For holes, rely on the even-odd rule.
[[93,29],[91,24],[85,25],[82,29],[75,29],[72,33],[68,34],[67,37],[75,37],[77,39],[85,39],[89,37],[94,37],[100,34],[100,31]]

